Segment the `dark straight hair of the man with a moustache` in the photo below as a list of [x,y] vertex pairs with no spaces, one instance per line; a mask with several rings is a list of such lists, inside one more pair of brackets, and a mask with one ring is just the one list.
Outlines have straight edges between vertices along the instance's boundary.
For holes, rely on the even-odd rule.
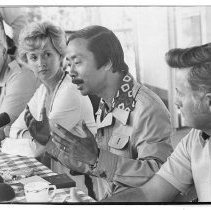
[[76,38],[88,40],[88,49],[94,54],[97,68],[111,61],[113,72],[128,73],[122,46],[111,30],[103,26],[88,26],[81,30],[73,31],[67,43]]

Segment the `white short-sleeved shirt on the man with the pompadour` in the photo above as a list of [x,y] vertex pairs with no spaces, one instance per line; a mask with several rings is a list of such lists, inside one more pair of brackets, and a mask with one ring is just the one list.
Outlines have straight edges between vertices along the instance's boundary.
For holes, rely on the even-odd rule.
[[201,202],[211,201],[211,141],[192,129],[157,173],[182,193],[195,185]]

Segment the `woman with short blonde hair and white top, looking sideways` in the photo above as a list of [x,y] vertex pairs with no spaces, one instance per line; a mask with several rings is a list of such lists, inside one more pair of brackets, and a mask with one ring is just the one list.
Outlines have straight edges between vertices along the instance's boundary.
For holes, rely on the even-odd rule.
[[[72,84],[71,77],[63,69],[65,52],[64,32],[49,22],[29,24],[20,33],[18,56],[40,79],[42,85],[12,125],[10,137],[13,144],[28,139],[31,156],[38,157],[44,152],[50,129],[55,129],[55,123],[84,136],[84,120],[92,133],[96,133],[93,109],[88,96],[80,94]],[[49,144],[56,147],[52,141],[49,141]],[[22,151],[17,152],[21,154]],[[69,173],[69,170],[53,160],[52,170]]]

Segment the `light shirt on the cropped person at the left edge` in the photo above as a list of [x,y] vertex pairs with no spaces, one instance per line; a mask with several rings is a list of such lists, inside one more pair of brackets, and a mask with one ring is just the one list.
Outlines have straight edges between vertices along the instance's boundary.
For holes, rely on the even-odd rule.
[[10,62],[0,82],[0,113],[8,113],[13,123],[39,85],[31,70],[21,67],[16,60]]

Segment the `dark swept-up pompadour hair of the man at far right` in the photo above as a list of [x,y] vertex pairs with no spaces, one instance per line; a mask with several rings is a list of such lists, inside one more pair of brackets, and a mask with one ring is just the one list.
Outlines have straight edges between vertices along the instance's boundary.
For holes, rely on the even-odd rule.
[[190,68],[188,82],[192,90],[211,91],[211,44],[166,53],[166,62],[172,68]]

